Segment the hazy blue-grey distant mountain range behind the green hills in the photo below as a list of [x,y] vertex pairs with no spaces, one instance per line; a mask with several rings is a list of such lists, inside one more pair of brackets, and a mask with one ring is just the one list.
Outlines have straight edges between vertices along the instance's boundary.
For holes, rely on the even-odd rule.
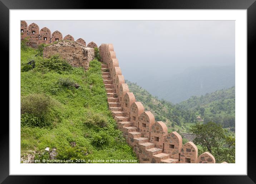
[[171,78],[151,78],[143,88],[172,103],[235,86],[235,65],[190,67]]

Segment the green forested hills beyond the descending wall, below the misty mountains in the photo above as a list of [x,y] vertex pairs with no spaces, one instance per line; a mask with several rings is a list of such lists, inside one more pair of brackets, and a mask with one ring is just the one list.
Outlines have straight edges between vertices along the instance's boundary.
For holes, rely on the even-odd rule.
[[159,100],[136,83],[125,82],[136,100],[141,101],[145,110],[151,111],[157,121],[165,122],[169,131],[189,132],[189,127],[197,123],[197,116],[203,118],[204,123],[212,121],[221,124],[232,135],[235,131],[235,87],[173,104]]

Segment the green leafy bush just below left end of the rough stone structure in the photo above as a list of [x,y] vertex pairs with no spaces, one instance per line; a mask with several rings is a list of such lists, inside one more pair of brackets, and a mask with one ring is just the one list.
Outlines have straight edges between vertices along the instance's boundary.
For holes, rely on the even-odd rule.
[[37,67],[39,71],[54,71],[59,74],[72,71],[72,66],[58,54],[53,55],[50,58],[43,59],[38,63]]

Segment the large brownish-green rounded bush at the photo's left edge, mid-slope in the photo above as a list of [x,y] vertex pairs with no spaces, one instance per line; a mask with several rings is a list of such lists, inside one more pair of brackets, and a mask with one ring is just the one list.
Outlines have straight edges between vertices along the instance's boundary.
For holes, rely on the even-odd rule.
[[51,110],[55,101],[44,94],[21,97],[21,126],[49,126],[53,121]]

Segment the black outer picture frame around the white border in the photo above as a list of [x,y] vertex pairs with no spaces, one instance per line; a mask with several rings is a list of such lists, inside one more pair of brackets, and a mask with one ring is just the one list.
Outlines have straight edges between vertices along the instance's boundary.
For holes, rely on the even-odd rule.
[[[50,6],[49,6],[50,5]],[[85,1],[85,0],[0,0],[1,53],[9,58],[9,10],[10,9],[246,9],[247,10],[247,64],[255,61],[253,46],[256,45],[256,2],[255,0],[133,0],[126,6],[120,1]],[[7,61],[7,58],[6,58]],[[3,62],[3,61],[2,61]],[[248,66],[248,65],[247,65]],[[247,67],[248,68],[248,67]],[[247,123],[247,122],[245,122]],[[4,123],[2,123],[2,126]],[[28,176],[9,175],[9,126],[5,123],[1,128],[0,139],[0,182],[3,183],[46,183],[67,180],[65,176]],[[189,183],[255,183],[256,167],[253,139],[253,123],[247,123],[247,175],[197,175],[172,176],[182,177],[182,181]],[[47,179],[45,178],[47,177]],[[78,177],[78,176],[76,176]],[[80,176],[83,177],[83,176]],[[200,178],[200,179],[198,179]],[[177,178],[178,179],[178,178]],[[75,181],[78,181],[76,178]]]

